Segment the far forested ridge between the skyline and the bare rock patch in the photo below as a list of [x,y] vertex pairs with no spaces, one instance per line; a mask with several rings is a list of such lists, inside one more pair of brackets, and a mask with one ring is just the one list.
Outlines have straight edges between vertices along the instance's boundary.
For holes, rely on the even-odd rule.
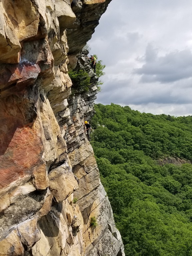
[[[98,104],[95,110],[92,126],[99,129],[96,131],[95,136],[98,138],[95,140],[108,144],[105,145],[106,148],[127,149],[132,146],[133,149],[143,151],[153,159],[171,155],[192,161],[191,116],[174,119],[172,117],[174,121],[170,121],[166,115],[141,114],[129,107],[115,104]],[[110,134],[110,143],[107,143],[107,138],[102,138],[106,134]]]

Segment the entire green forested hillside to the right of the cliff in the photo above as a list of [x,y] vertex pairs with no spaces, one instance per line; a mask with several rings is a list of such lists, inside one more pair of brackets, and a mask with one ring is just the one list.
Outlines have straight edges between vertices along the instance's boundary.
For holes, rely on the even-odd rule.
[[126,256],[192,255],[192,117],[95,106],[91,144]]

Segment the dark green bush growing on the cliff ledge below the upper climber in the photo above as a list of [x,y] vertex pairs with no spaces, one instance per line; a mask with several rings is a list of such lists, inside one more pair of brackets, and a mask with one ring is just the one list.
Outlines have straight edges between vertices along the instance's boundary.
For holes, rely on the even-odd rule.
[[71,81],[73,83],[72,89],[77,92],[88,91],[90,85],[90,76],[86,71],[79,70],[77,71],[69,71],[68,72]]

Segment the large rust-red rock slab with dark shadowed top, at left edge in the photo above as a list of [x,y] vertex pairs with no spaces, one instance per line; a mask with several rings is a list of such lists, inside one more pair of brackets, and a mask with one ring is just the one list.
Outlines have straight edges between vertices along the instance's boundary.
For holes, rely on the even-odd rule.
[[37,112],[33,95],[33,89],[29,89],[1,100],[0,189],[16,180],[30,177],[34,169],[38,170],[43,165],[38,122],[34,122]]

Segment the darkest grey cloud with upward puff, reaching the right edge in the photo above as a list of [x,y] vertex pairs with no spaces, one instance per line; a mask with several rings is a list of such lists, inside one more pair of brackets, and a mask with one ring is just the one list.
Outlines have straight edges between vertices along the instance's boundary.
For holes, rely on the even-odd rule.
[[134,70],[136,74],[142,75],[142,83],[170,83],[192,77],[192,53],[189,49],[159,57],[158,52],[148,45],[145,61],[141,68]]

